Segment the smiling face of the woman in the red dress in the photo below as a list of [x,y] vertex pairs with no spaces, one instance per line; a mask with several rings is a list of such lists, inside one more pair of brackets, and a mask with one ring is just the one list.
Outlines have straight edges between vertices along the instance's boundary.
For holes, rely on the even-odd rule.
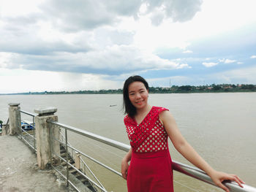
[[148,90],[143,82],[135,81],[128,86],[129,101],[136,109],[142,109],[148,105]]

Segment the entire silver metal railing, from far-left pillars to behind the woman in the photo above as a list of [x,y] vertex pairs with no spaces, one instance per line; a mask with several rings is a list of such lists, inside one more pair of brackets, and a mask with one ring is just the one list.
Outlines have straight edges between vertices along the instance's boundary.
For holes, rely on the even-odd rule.
[[[31,114],[31,113],[29,113],[29,112],[25,112],[25,111],[23,111],[23,110],[20,110],[20,112],[22,112],[22,113],[24,113],[24,114],[26,114],[26,115],[31,116],[31,117],[33,118],[33,126],[34,126],[34,117],[35,117],[35,115],[34,115],[34,114]],[[23,120],[23,121],[26,122],[25,120]],[[79,129],[79,128],[75,128],[75,127],[72,127],[72,126],[68,126],[68,125],[65,125],[65,124],[63,124],[63,123],[59,123],[59,122],[55,122],[55,121],[50,121],[49,123],[50,123],[51,125],[53,125],[53,127],[56,127],[56,126],[57,126],[57,127],[64,128],[64,129],[65,129],[65,137],[64,137],[65,141],[63,141],[63,140],[60,141],[59,139],[58,139],[58,141],[65,145],[67,152],[68,152],[68,147],[69,147],[70,149],[72,149],[72,151],[75,151],[76,153],[80,153],[81,155],[85,156],[86,158],[89,158],[91,161],[94,161],[95,163],[97,163],[97,164],[103,166],[105,169],[108,169],[108,170],[110,170],[111,172],[113,172],[113,173],[115,173],[115,174],[117,174],[118,176],[121,177],[121,173],[120,173],[120,172],[117,172],[116,170],[110,168],[109,166],[107,166],[107,165],[105,165],[105,164],[102,164],[101,162],[97,161],[97,160],[94,159],[94,158],[91,158],[89,155],[86,155],[85,153],[81,152],[80,150],[75,149],[75,147],[72,147],[72,146],[69,144],[69,142],[67,142],[67,131],[72,131],[72,132],[74,132],[74,133],[76,133],[76,134],[80,134],[80,135],[82,135],[82,136],[84,136],[84,137],[88,137],[88,138],[97,140],[98,142],[102,142],[102,143],[104,143],[104,144],[106,144],[106,145],[110,145],[110,146],[112,146],[112,147],[116,147],[116,148],[118,148],[119,150],[126,151],[126,152],[128,152],[129,149],[130,149],[130,146],[129,146],[129,145],[126,145],[126,144],[121,143],[121,142],[117,142],[117,141],[115,141],[115,140],[113,140],[113,139],[108,139],[108,138],[106,138],[106,137],[99,136],[99,135],[97,135],[97,134],[93,134],[93,133],[91,133],[91,132],[89,132],[89,131],[84,131],[84,130],[81,130],[81,129]],[[35,128],[34,128],[34,130],[35,130]],[[35,144],[36,138],[35,138],[35,133],[34,133],[34,131],[33,131],[33,136],[32,136],[31,134],[27,133],[27,131],[24,131],[24,130],[23,130],[23,132],[24,132],[25,134],[28,134],[29,137],[33,137],[33,139],[34,139],[34,146],[32,146],[31,144],[29,144],[29,142],[24,139],[23,134],[21,134],[21,137],[22,137],[23,141],[25,141],[31,148],[33,148],[34,151],[35,151],[35,153],[36,153],[36,152],[37,152],[37,150],[36,150],[36,144]],[[56,139],[56,138],[52,138],[52,139]],[[69,166],[72,167],[72,168],[75,169],[77,172],[79,172],[80,174],[82,174],[83,177],[86,177],[86,179],[88,179],[91,183],[93,183],[95,186],[97,186],[97,188],[99,188],[101,191],[106,191],[106,189],[103,187],[103,185],[102,185],[101,183],[99,184],[99,180],[96,179],[97,182],[94,182],[94,180],[91,180],[91,178],[89,178],[84,172],[81,172],[81,171],[80,171],[79,169],[77,169],[75,166],[73,166],[72,164],[70,164],[70,163],[68,162],[68,159],[62,158],[61,156],[59,156],[58,154],[54,153],[53,151],[51,151],[51,152],[53,153],[53,155],[58,156],[62,161],[66,161],[66,163],[67,163],[67,168],[68,168]],[[66,157],[67,157],[67,155],[66,155]],[[80,159],[81,159],[81,161],[84,163],[84,166],[87,166],[87,165],[86,165],[86,162],[83,161],[83,158],[80,158]],[[217,185],[215,185],[215,184],[212,182],[211,178],[208,177],[208,175],[207,175],[205,172],[203,172],[203,171],[200,170],[200,169],[197,169],[196,167],[188,166],[187,164],[181,164],[181,163],[179,163],[178,161],[173,161],[172,166],[173,166],[173,169],[176,170],[177,172],[181,172],[182,174],[186,174],[186,175],[189,176],[189,177],[193,177],[193,178],[195,178],[195,179],[197,179],[197,180],[203,181],[204,183],[208,183],[208,184],[211,184],[211,185],[214,185],[214,186],[217,187]],[[79,189],[69,180],[69,172],[66,172],[66,175],[65,175],[65,174],[63,174],[62,172],[60,172],[58,169],[56,169],[56,168],[54,168],[54,167],[53,167],[53,169],[55,169],[56,172],[59,172],[59,174],[61,174],[61,176],[64,177],[65,180],[67,180],[67,183],[69,183],[70,185],[72,185],[72,187],[75,188],[75,190],[79,191]],[[67,170],[68,170],[68,169],[67,169]],[[91,172],[91,170],[90,170],[90,172]],[[91,173],[92,173],[92,172],[91,172]],[[92,174],[93,174],[93,173],[92,173]],[[97,178],[97,177],[95,177],[95,178]],[[224,182],[224,185],[226,185],[227,188],[230,189],[230,192],[256,192],[256,188],[254,188],[254,187],[252,187],[252,186],[249,186],[249,185],[244,185],[244,184],[243,184],[244,188],[241,188],[237,183],[235,183],[235,182],[230,182],[230,181],[225,181],[225,182]]]

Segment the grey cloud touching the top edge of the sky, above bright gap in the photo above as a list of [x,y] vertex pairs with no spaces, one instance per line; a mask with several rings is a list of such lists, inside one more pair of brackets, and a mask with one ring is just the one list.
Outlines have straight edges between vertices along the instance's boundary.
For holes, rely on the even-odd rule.
[[165,18],[184,22],[191,20],[200,11],[201,4],[202,0],[116,0],[108,3],[104,0],[48,0],[40,8],[46,13],[45,18],[51,18],[54,26],[65,31],[78,31],[113,25],[120,22],[122,17],[138,19],[145,15],[149,18],[155,15],[151,17],[155,24],[162,23]]

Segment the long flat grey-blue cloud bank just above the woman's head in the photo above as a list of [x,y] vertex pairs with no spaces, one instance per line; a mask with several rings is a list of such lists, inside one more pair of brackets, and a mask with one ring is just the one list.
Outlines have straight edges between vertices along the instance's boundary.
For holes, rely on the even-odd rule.
[[9,69],[123,74],[151,69],[177,69],[178,67],[178,64],[173,61],[128,45],[113,45],[106,47],[105,50],[95,50],[88,53],[58,52],[52,55],[12,53],[12,55],[4,61],[8,62],[7,68]]

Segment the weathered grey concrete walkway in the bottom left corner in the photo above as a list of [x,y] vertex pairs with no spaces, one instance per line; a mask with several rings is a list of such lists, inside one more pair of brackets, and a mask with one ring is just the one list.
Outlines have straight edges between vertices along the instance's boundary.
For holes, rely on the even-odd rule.
[[74,191],[51,170],[39,170],[36,155],[18,137],[0,136],[0,191]]

